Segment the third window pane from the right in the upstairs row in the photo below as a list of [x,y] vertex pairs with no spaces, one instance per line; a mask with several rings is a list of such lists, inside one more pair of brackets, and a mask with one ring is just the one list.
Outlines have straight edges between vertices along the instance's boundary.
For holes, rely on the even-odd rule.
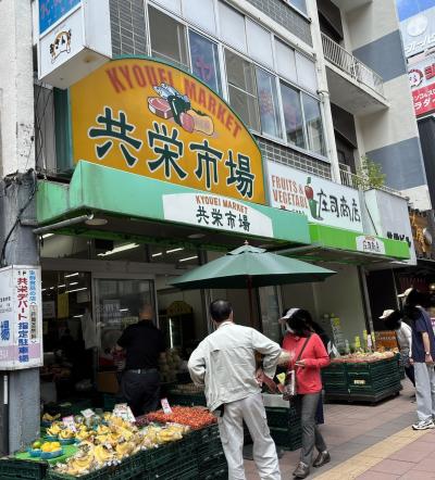
[[257,68],[257,91],[261,131],[272,137],[282,137],[276,77],[262,68]]

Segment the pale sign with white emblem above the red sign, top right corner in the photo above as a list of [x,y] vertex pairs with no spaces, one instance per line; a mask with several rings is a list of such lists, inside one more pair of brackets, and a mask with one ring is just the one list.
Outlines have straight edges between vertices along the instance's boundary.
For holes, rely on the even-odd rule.
[[405,55],[415,55],[435,46],[435,8],[400,22]]

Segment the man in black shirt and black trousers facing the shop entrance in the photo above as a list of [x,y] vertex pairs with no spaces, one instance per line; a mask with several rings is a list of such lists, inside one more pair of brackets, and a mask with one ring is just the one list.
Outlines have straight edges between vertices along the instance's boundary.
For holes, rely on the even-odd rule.
[[139,321],[128,326],[116,344],[126,354],[121,391],[135,417],[156,410],[160,401],[159,357],[164,341],[153,316],[151,305],[142,305]]

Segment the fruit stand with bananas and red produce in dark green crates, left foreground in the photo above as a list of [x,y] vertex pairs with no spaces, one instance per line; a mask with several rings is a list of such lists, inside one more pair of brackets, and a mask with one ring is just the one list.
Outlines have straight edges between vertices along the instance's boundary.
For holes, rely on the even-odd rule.
[[[77,439],[77,445],[63,445],[64,455],[57,459],[30,460],[29,454],[25,452],[14,458],[1,459],[0,479],[227,479],[227,465],[217,425],[204,408],[173,407],[171,415],[157,412],[137,418],[136,425],[109,414],[98,418],[97,424],[89,422],[87,430],[83,419],[76,422],[76,435],[83,435],[84,440],[79,442]],[[53,433],[60,425],[59,420],[54,420],[47,430]],[[90,437],[86,437],[89,432]],[[129,440],[126,441],[120,433]],[[121,443],[113,440],[116,435]],[[130,447],[127,449],[128,443]],[[125,449],[120,450],[120,444]],[[44,444],[40,449],[44,451]],[[54,463],[55,466],[50,465]]]

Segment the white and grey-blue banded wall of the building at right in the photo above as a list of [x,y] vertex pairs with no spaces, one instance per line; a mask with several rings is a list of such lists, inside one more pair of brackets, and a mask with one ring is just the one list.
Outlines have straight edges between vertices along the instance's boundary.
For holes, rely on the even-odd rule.
[[[366,154],[386,174],[386,185],[406,191],[413,205],[431,207],[395,0],[373,0],[341,15],[344,47],[384,79],[389,108],[357,118]],[[363,151],[361,151],[363,150]]]

